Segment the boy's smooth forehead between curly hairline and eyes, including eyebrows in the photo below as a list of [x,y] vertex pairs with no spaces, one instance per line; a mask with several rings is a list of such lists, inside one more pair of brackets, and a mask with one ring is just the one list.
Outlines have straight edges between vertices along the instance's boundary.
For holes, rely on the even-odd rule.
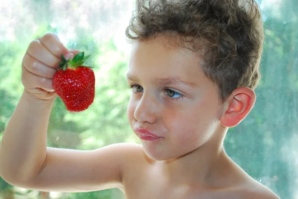
[[[130,55],[127,79],[151,83],[176,84],[190,88],[209,81],[200,67],[200,59],[190,50],[164,48],[158,42],[135,43]],[[208,82],[210,83],[210,82]]]

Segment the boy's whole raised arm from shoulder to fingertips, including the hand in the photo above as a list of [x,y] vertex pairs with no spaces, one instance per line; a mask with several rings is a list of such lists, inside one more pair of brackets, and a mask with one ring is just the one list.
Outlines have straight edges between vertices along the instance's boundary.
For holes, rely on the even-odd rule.
[[47,148],[56,97],[52,77],[61,54],[68,59],[70,52],[52,33],[29,45],[22,62],[25,89],[0,144],[0,176],[32,190],[85,192],[121,187],[125,154],[139,146],[114,144],[92,151]]

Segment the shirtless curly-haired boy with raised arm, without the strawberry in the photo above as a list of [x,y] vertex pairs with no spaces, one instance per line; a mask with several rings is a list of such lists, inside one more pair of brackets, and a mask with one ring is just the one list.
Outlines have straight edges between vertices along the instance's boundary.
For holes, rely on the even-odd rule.
[[229,127],[252,109],[263,29],[256,2],[137,0],[127,116],[142,146],[92,151],[47,147],[56,97],[52,77],[77,54],[54,34],[30,43],[24,92],[0,145],[0,175],[31,190],[88,192],[117,187],[127,199],[278,199],[225,153]]

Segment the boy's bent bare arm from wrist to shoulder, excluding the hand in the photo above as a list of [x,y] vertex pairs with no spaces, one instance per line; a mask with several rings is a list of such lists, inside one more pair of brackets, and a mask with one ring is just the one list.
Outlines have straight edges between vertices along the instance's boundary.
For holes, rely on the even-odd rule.
[[[92,151],[46,147],[53,101],[23,93],[0,145],[0,176],[17,187],[87,192],[118,187],[137,144],[113,144]],[[34,104],[34,106],[33,106]]]

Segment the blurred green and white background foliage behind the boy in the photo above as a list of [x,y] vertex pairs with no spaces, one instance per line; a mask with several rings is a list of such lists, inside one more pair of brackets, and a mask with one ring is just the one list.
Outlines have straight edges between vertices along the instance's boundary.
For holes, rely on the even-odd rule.
[[[249,116],[229,130],[224,146],[248,174],[282,199],[298,199],[298,4],[296,0],[258,2],[266,38],[257,102]],[[115,39],[117,27],[128,23],[124,19],[133,4],[130,0],[8,0],[0,5],[0,20],[6,21],[0,28],[0,139],[23,90],[21,61],[29,43],[55,32],[67,38],[68,48],[92,54],[87,64],[95,66],[96,96],[90,108],[78,114],[69,113],[56,99],[48,145],[88,150],[116,142],[140,143],[126,118],[128,52]],[[120,34],[124,35],[123,29]],[[41,194],[0,179],[0,198],[36,199]],[[124,198],[116,189],[57,197]],[[45,198],[55,197],[46,193]]]

